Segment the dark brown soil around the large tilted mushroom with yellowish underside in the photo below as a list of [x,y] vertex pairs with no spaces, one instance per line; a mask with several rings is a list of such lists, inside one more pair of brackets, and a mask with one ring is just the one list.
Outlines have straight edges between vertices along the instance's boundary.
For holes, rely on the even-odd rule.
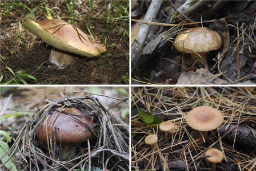
[[[70,3],[71,4],[71,3]],[[107,29],[107,11],[109,4],[110,20]],[[12,5],[10,7],[10,5]],[[18,22],[26,21],[34,9],[35,21],[47,19],[49,7],[66,22],[71,23],[66,1],[19,1],[1,2],[1,73],[2,83],[14,77],[6,67],[14,72],[25,72],[34,76],[38,82],[25,79],[29,84],[126,84],[122,76],[129,78],[129,19],[117,19],[127,13],[119,11],[118,5],[129,6],[129,1],[93,1],[93,13],[90,15],[89,1],[74,1],[74,25],[86,34],[90,27],[94,38],[105,42],[107,51],[98,58],[86,58],[73,54],[75,62],[65,70],[57,70],[48,59],[51,47],[23,26],[19,30]],[[7,11],[9,10],[9,11]],[[127,9],[129,11],[129,8]],[[85,22],[86,21],[86,22]]]

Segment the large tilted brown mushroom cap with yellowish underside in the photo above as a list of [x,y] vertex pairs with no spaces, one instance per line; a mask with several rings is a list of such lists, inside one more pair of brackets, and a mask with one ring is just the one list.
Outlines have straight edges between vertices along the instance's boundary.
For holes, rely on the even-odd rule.
[[95,57],[106,51],[101,41],[95,42],[90,35],[61,19],[25,21],[23,25],[47,44],[81,56]]

